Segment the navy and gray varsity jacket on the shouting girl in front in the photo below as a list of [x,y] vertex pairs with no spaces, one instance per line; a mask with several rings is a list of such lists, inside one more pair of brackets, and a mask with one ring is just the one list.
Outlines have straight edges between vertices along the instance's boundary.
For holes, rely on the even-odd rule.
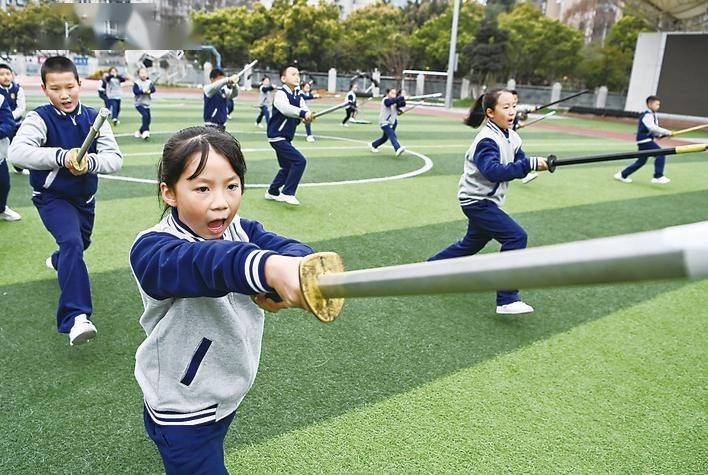
[[202,424],[236,410],[258,370],[264,313],[249,296],[272,290],[266,260],[312,252],[238,215],[220,240],[199,237],[176,210],[138,235],[130,266],[147,338],[135,377],[156,424]]

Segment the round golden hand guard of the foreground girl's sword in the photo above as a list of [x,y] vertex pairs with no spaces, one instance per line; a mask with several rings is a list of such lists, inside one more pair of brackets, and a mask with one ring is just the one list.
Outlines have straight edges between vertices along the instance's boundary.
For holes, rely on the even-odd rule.
[[322,295],[317,279],[323,274],[344,272],[344,261],[336,252],[317,252],[300,261],[300,290],[307,309],[324,323],[331,323],[342,312],[344,299]]

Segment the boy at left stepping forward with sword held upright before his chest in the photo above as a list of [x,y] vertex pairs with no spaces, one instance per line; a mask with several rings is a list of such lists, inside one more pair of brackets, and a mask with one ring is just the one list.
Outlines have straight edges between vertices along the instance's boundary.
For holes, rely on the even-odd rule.
[[80,163],[79,147],[97,111],[79,102],[81,81],[74,63],[47,58],[40,70],[49,104],[27,114],[10,145],[10,161],[30,170],[34,203],[59,249],[46,265],[57,273],[61,294],[57,330],[78,345],[96,336],[84,251],[91,244],[98,173],[113,173],[123,158],[108,122]]

